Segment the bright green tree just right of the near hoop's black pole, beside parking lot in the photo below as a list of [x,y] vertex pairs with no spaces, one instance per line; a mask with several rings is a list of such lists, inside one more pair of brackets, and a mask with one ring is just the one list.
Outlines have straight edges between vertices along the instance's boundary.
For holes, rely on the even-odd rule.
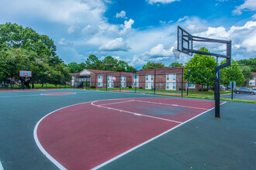
[[[223,60],[220,64],[226,63],[226,59]],[[235,60],[231,60],[231,66],[227,66],[220,70],[220,83],[228,86],[230,81],[235,81],[237,86],[242,86],[244,84],[244,75],[240,66],[237,66],[237,62]]]

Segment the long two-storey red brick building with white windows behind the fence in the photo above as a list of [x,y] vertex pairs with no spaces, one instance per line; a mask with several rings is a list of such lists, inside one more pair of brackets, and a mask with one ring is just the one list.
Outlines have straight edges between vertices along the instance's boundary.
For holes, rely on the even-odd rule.
[[[90,87],[137,87],[140,89],[181,90],[187,89],[188,83],[182,80],[184,67],[140,70],[137,73],[126,73],[106,70],[82,70],[74,74],[75,87],[88,83]],[[72,76],[73,76],[72,74]],[[72,79],[73,80],[73,79]],[[201,86],[189,83],[189,90],[199,90]]]

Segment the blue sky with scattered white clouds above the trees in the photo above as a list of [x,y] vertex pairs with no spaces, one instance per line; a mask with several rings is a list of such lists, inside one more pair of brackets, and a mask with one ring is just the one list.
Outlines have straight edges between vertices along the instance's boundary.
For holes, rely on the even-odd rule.
[[[232,41],[235,60],[256,57],[255,0],[1,0],[6,22],[47,35],[65,63],[82,63],[94,54],[112,56],[140,69],[147,62],[186,63],[175,59],[177,26],[193,36]],[[213,53],[223,44],[195,43]]]

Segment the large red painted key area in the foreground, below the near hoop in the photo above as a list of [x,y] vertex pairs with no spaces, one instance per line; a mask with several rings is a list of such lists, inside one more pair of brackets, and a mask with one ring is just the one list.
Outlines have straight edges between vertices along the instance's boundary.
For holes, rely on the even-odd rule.
[[64,168],[99,168],[213,107],[212,101],[170,98],[76,104],[44,117],[36,138]]

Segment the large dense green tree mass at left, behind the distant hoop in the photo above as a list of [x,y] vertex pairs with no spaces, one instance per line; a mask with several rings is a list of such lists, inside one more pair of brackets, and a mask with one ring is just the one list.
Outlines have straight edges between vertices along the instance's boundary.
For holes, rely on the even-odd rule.
[[33,29],[24,29],[10,22],[0,25],[0,48],[0,64],[4,70],[2,80],[9,77],[19,79],[19,70],[32,71],[32,77],[26,80],[26,87],[29,87],[29,83],[51,83],[53,75],[57,73],[65,82],[71,80],[67,66],[56,55],[54,41]]

